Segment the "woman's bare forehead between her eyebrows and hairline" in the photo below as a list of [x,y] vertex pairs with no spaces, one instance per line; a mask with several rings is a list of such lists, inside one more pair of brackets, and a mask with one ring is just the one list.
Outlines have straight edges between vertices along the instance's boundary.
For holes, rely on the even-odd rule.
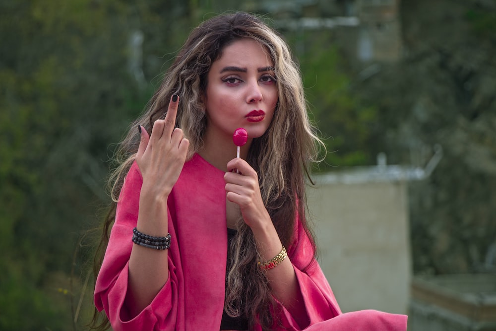
[[244,38],[224,47],[221,57],[212,64],[212,67],[224,65],[265,67],[273,66],[273,63],[264,45],[253,39]]

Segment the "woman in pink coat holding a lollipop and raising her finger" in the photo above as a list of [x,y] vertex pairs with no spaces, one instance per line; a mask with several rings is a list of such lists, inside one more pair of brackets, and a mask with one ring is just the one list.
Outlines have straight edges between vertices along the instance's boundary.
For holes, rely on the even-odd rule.
[[404,316],[341,314],[315,261],[319,144],[274,31],[247,13],[194,29],[121,144],[95,285],[114,330],[405,330]]

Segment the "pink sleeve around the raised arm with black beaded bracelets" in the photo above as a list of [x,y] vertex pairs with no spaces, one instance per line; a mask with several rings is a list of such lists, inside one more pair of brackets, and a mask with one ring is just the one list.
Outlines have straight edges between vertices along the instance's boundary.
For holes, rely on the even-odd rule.
[[105,310],[114,331],[172,331],[176,326],[178,291],[177,277],[171,272],[174,265],[170,256],[169,279],[153,301],[135,317],[129,316],[126,307],[127,266],[133,245],[132,229],[138,218],[141,185],[141,174],[134,163],[121,190],[115,224],[96,280],[95,306],[100,311]]

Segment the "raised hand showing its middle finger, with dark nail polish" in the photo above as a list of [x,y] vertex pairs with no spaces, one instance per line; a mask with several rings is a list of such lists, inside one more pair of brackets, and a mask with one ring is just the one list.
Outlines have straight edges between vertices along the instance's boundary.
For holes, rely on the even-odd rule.
[[186,161],[189,141],[183,130],[174,128],[179,98],[169,102],[164,120],[153,124],[151,136],[141,128],[136,162],[143,177],[143,190],[154,197],[169,196]]

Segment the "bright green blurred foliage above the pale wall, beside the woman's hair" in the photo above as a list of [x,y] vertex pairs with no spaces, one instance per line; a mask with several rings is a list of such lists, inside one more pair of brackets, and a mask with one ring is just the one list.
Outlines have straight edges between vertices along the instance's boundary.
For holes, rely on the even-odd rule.
[[315,43],[302,58],[310,111],[329,149],[320,170],[371,164],[376,112],[373,106],[364,106],[354,97],[353,82],[343,68],[346,64],[339,49],[322,48]]

